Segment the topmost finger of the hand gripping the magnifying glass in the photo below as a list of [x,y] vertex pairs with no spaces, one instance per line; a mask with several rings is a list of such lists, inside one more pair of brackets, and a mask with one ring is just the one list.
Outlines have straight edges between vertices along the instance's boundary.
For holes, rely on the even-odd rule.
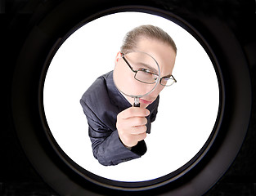
[[119,113],[120,118],[132,118],[132,117],[146,117],[150,114],[150,111],[145,108],[130,107]]

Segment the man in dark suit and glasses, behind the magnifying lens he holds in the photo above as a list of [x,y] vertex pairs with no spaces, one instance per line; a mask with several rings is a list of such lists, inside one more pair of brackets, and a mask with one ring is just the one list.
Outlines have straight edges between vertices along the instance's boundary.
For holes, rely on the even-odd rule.
[[[146,133],[150,133],[151,122],[155,121],[158,112],[159,93],[177,82],[172,75],[177,47],[163,29],[141,25],[129,31],[115,57],[115,64],[131,51],[153,56],[160,68],[159,84],[150,94],[140,98],[140,107],[133,107],[133,98],[117,89],[113,71],[97,78],[80,100],[88,119],[93,155],[104,166],[140,158],[146,153]],[[132,84],[131,87],[134,88]]]

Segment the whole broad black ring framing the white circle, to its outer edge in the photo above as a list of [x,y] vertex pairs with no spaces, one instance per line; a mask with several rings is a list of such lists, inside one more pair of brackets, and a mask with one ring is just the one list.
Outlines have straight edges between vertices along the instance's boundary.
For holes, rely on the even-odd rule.
[[[97,2],[95,4],[90,2],[86,6],[92,7],[96,4]],[[85,4],[83,5],[83,7],[86,6]],[[86,7],[86,10],[89,9],[88,7]],[[66,7],[59,7],[59,11],[62,11],[61,14],[70,14],[64,13],[65,9]],[[76,9],[82,10],[79,5],[74,6],[74,16],[78,15],[75,12]],[[181,25],[202,43],[203,38],[200,37],[200,34],[195,29],[194,33],[191,32],[193,28],[185,20],[174,16],[168,11],[152,7],[111,8],[101,11],[100,14],[92,15],[89,20],[118,11],[141,11],[163,16],[168,20],[173,20],[177,25]],[[79,14],[82,15],[80,12]],[[88,16],[91,14],[88,13]],[[51,137],[51,131],[46,126],[47,124],[45,122],[42,123],[45,120],[42,108],[43,74],[45,75],[47,71],[46,67],[43,68],[45,59],[51,48],[60,47],[61,42],[56,43],[57,38],[63,38],[63,35],[78,24],[78,20],[72,20],[70,25],[67,25],[68,27],[63,27],[64,21],[62,26],[54,26],[56,19],[61,20],[61,17],[56,12],[51,16],[54,16],[53,20],[49,20],[50,16],[46,17],[29,34],[22,51],[20,51],[12,86],[12,113],[17,135],[30,162],[43,179],[53,189],[56,189],[59,194],[120,194],[123,190],[134,191],[142,189],[145,190],[141,192],[143,194],[146,193],[146,189],[150,189],[150,193],[153,194],[204,194],[222,176],[236,157],[249,122],[251,105],[249,72],[239,43],[236,38],[228,36],[231,31],[218,20],[205,19],[203,21],[207,27],[206,29],[209,29],[208,33],[211,35],[208,36],[204,32],[204,38],[210,39],[206,38],[208,44],[204,42],[203,47],[208,54],[212,54],[210,57],[218,75],[221,92],[220,103],[222,103],[211,139],[206,143],[207,145],[204,146],[205,148],[202,149],[202,152],[197,154],[189,165],[181,168],[176,174],[169,174],[164,176],[163,179],[150,180],[138,185],[137,183],[127,184],[107,181],[86,172],[83,168],[79,168],[65,156],[64,152],[61,152],[61,149]],[[88,16],[80,16],[80,20],[88,18]],[[45,31],[49,25],[52,27],[52,33]],[[221,34],[216,29],[211,29],[211,25],[213,27],[218,26]],[[222,42],[227,40],[231,47]],[[61,40],[59,39],[59,41]],[[217,46],[213,48],[216,59],[209,47],[214,42],[217,42]],[[55,46],[54,43],[56,43]],[[31,56],[31,54],[33,55]],[[234,55],[236,55],[236,60],[232,58]],[[48,56],[49,59],[51,59],[51,56]],[[44,69],[43,74],[42,69]],[[81,174],[81,171],[83,174]]]

